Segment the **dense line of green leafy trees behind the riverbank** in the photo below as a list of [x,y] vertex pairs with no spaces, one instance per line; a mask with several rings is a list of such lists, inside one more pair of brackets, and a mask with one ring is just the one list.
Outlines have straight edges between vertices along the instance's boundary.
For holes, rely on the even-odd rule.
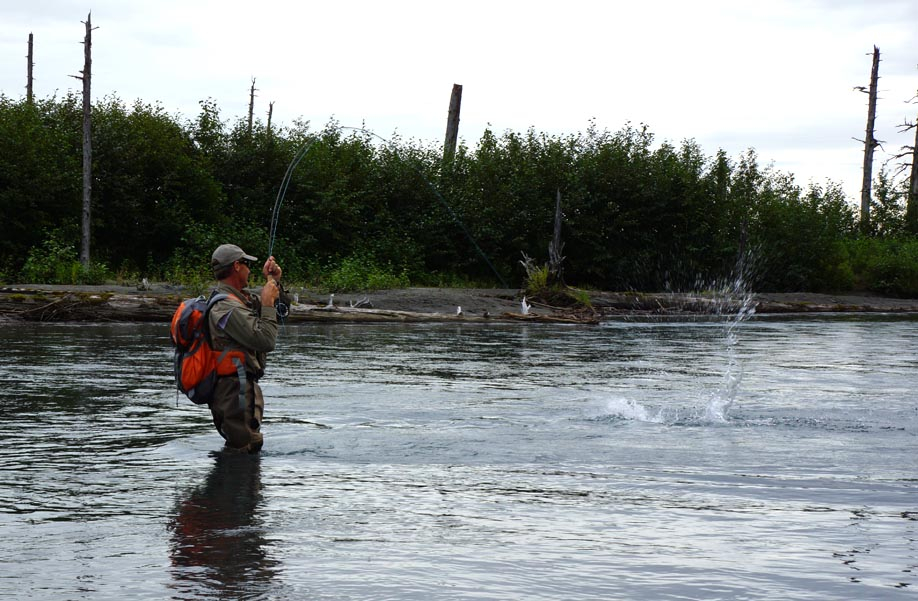
[[[647,126],[549,135],[485,131],[474,147],[381,140],[335,122],[272,127],[106,97],[92,107],[93,262],[77,261],[81,99],[0,95],[0,279],[209,277],[213,248],[273,252],[293,281],[331,289],[519,286],[546,261],[561,197],[564,277],[608,290],[732,277],[760,291],[918,294],[907,182],[876,178],[869,231],[838,184],[798,185],[754,150],[706,154]],[[303,152],[305,149],[305,153]]]

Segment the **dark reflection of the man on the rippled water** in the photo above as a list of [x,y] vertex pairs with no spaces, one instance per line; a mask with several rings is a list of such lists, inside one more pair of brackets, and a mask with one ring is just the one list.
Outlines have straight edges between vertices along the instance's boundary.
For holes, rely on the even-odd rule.
[[258,519],[258,455],[218,453],[170,521],[175,588],[194,598],[258,596],[277,572]]

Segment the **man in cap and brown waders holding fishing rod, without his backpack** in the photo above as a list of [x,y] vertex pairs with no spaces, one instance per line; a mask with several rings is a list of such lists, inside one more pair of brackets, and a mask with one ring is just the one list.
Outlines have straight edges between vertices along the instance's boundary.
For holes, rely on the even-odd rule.
[[258,379],[265,373],[267,354],[274,350],[277,340],[277,310],[275,301],[283,294],[280,284],[281,268],[269,257],[261,269],[265,284],[256,295],[246,286],[251,265],[258,261],[245,254],[235,244],[217,247],[211,267],[218,280],[215,294],[227,294],[210,311],[207,326],[215,351],[239,349],[245,353],[245,371],[220,376],[210,403],[214,425],[226,447],[241,452],[256,453],[263,437],[259,431],[265,401]]

